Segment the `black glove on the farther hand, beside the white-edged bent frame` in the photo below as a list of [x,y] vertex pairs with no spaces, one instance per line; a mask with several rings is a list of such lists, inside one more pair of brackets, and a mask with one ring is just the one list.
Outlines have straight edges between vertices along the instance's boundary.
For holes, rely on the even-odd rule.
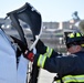
[[41,40],[38,41],[35,49],[36,49],[36,52],[40,54],[44,54],[46,52],[46,46]]

